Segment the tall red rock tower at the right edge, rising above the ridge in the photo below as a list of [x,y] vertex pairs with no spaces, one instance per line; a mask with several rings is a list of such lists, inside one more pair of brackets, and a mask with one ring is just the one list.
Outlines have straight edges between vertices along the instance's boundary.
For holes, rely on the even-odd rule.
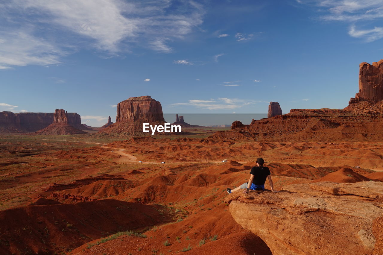
[[383,59],[373,62],[372,65],[366,62],[359,65],[359,92],[349,103],[360,101],[383,101]]

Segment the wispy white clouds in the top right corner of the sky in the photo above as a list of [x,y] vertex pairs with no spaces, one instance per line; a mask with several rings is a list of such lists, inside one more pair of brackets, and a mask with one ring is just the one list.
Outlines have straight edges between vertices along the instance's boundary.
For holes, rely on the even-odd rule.
[[356,23],[366,23],[383,18],[383,3],[381,0],[306,0],[297,1],[301,4],[319,7],[321,12],[327,14],[320,16],[325,21],[343,21],[349,23],[348,34],[355,38],[372,42],[383,38],[383,27],[370,29],[356,29]]

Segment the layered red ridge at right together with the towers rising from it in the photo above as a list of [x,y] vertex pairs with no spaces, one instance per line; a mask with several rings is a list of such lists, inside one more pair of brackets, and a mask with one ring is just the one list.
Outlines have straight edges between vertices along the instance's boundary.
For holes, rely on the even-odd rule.
[[[232,123],[231,131],[218,131],[214,139],[282,139],[284,141],[321,139],[370,140],[383,139],[383,60],[360,64],[359,92],[344,109],[291,109],[279,112],[277,103],[270,102],[267,119],[249,125]],[[273,108],[275,108],[273,110]],[[278,109],[277,109],[278,108]],[[282,111],[280,112],[282,114]],[[272,118],[270,118],[272,117]]]

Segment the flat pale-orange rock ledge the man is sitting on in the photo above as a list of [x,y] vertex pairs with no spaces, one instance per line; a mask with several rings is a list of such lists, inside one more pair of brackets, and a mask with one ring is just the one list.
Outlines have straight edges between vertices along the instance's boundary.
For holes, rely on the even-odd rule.
[[[279,193],[234,192],[232,217],[273,254],[372,254],[382,250],[383,183],[293,184]],[[380,254],[380,253],[375,253]]]

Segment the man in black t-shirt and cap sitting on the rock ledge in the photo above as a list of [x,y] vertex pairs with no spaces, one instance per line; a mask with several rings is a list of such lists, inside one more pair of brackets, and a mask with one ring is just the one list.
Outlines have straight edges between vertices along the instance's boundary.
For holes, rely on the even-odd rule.
[[245,182],[244,184],[235,188],[234,190],[227,188],[226,191],[230,194],[240,189],[246,189],[243,191],[243,193],[247,193],[249,190],[265,190],[265,181],[267,177],[268,182],[270,183],[271,191],[278,192],[274,190],[270,170],[268,169],[268,167],[263,166],[264,162],[264,159],[258,158],[257,167],[251,168],[249,181]]

